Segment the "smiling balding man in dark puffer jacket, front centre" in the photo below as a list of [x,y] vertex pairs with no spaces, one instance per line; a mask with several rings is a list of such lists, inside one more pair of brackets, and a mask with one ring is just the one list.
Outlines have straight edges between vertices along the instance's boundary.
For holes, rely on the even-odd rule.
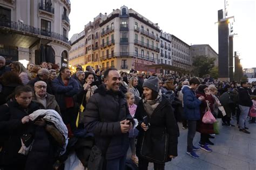
[[86,105],[85,128],[95,134],[95,145],[102,151],[104,169],[124,169],[129,147],[129,130],[132,118],[125,96],[119,90],[120,74],[116,69],[107,69],[104,82],[95,90]]

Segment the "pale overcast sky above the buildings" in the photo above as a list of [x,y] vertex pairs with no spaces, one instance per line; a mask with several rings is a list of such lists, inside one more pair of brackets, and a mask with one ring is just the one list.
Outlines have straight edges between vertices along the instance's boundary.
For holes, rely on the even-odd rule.
[[[256,67],[255,0],[227,0],[228,17],[234,16],[234,51],[238,51],[244,68]],[[209,44],[218,53],[218,10],[225,0],[70,0],[69,15],[73,34],[83,31],[100,12],[107,15],[125,5],[137,11],[164,32],[173,34],[188,45]],[[254,31],[253,31],[254,30]]]

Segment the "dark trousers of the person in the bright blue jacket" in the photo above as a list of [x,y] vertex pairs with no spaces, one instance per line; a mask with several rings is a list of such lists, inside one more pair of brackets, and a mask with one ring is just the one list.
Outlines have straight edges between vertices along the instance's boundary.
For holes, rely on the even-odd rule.
[[197,130],[197,121],[187,120],[187,151],[193,151],[193,139]]

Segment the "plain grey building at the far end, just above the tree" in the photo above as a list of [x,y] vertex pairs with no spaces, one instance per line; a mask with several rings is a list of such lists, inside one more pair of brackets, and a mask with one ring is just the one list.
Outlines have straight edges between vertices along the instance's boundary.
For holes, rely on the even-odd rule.
[[214,66],[218,66],[218,59],[219,59],[219,55],[217,52],[214,51],[214,49],[208,45],[208,44],[196,44],[196,45],[191,45],[191,56],[192,58],[194,56],[200,56],[200,55],[204,55],[207,56],[209,58],[214,58]]

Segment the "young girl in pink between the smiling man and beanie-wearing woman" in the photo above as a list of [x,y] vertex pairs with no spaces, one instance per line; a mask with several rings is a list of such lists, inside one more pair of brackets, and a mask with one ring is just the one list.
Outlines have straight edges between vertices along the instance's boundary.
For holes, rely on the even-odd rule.
[[[132,117],[134,117],[137,105],[134,104],[135,102],[135,97],[131,92],[126,93],[126,100],[129,106],[129,111]],[[131,152],[132,156],[131,159],[135,164],[138,164],[139,160],[138,157],[136,156],[136,151],[135,151],[135,138],[138,135],[138,130],[137,129],[131,129],[129,131],[129,142],[130,142],[130,147],[131,147]]]

